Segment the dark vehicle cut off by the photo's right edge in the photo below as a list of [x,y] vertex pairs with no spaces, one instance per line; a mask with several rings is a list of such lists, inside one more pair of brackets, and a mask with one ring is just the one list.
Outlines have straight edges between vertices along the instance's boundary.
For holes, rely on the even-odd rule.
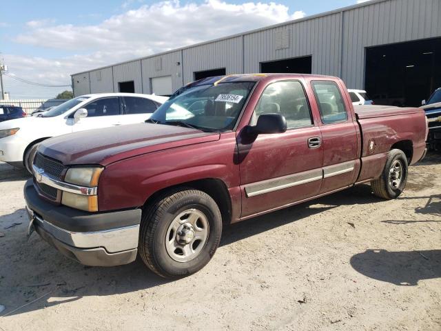
[[421,104],[429,121],[427,144],[431,150],[441,150],[441,88],[437,88],[429,99],[423,100]]

